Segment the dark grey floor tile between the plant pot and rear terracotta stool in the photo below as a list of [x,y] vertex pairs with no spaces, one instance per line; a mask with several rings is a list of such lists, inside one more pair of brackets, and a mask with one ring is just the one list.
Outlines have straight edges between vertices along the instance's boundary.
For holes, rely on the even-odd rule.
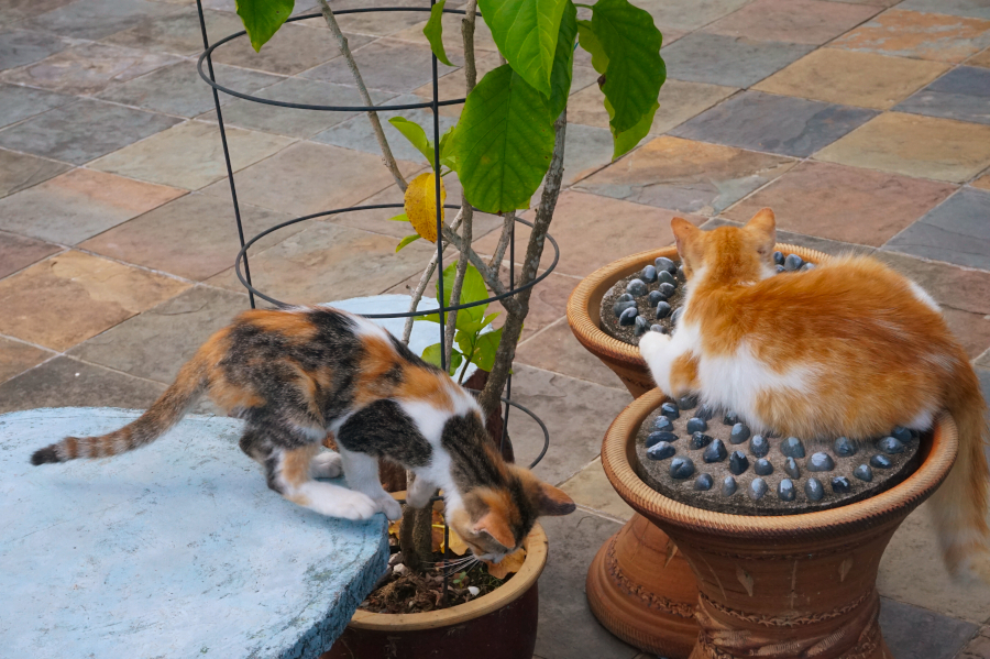
[[636,657],[639,650],[595,619],[584,591],[587,567],[622,525],[582,510],[566,517],[543,517],[540,524],[550,540],[550,556],[540,576],[536,653],[546,659]]

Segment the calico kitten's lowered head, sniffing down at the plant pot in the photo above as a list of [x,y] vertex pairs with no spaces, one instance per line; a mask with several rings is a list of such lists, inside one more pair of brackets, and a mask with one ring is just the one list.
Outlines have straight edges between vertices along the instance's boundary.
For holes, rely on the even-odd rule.
[[522,546],[537,517],[568,515],[576,506],[570,496],[534,476],[529,470],[509,466],[505,487],[477,487],[463,497],[448,521],[477,558],[498,562]]

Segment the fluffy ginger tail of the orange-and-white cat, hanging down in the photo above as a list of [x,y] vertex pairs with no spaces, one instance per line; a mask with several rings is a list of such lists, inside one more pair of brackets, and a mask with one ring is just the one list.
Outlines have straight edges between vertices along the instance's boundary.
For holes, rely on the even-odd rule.
[[949,571],[990,584],[990,528],[987,524],[990,469],[985,452],[990,443],[987,403],[967,356],[960,354],[955,362],[943,403],[959,431],[959,453],[948,477],[932,497],[935,525]]

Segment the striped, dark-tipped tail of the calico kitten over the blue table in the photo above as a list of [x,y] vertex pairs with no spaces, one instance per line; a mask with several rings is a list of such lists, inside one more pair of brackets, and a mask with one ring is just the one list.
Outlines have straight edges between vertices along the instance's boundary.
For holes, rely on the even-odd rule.
[[208,341],[179,371],[178,377],[143,415],[119,430],[99,437],[66,437],[38,449],[31,464],[107,458],[133,451],[158,439],[178,424],[207,388],[213,341]]

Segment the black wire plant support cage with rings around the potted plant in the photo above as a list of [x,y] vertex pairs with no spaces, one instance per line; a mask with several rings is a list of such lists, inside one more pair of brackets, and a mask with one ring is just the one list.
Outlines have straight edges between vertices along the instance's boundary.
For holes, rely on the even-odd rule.
[[[435,2],[436,2],[436,0],[430,0],[430,7],[421,7],[421,8],[420,7],[378,7],[378,8],[366,8],[366,9],[342,9],[340,11],[334,11],[333,13],[334,13],[334,15],[344,15],[344,14],[352,14],[352,13],[375,13],[375,12],[398,12],[398,11],[429,12],[431,10],[432,6],[435,4]],[[302,216],[299,218],[287,220],[285,222],[279,222],[278,224],[275,224],[273,227],[270,227],[268,229],[265,229],[264,231],[254,235],[253,238],[245,240],[244,227],[241,222],[241,209],[240,209],[240,205],[238,204],[238,191],[237,191],[237,185],[234,183],[233,166],[231,165],[231,160],[230,160],[230,149],[229,149],[228,141],[227,141],[227,130],[223,125],[223,113],[220,108],[220,92],[223,92],[223,94],[227,94],[228,96],[237,97],[237,98],[240,98],[243,100],[248,100],[248,101],[252,101],[252,102],[256,102],[256,103],[263,103],[263,105],[267,105],[267,106],[275,106],[275,107],[279,107],[279,108],[290,108],[290,109],[298,109],[298,110],[328,111],[328,112],[334,112],[334,111],[336,112],[369,112],[369,111],[382,111],[382,110],[416,110],[416,109],[429,108],[433,113],[433,149],[435,149],[433,157],[435,157],[435,162],[439,162],[439,160],[440,160],[440,112],[439,112],[440,108],[443,106],[462,105],[466,99],[458,98],[458,99],[440,100],[438,98],[439,97],[439,84],[438,84],[439,76],[438,76],[438,72],[437,72],[437,62],[438,61],[437,61],[436,54],[431,54],[432,90],[433,90],[433,100],[432,101],[424,101],[420,103],[397,103],[397,105],[382,105],[382,106],[322,106],[322,105],[309,105],[309,103],[294,103],[294,102],[288,102],[288,101],[261,98],[257,96],[252,96],[250,94],[243,94],[243,92],[237,91],[234,89],[224,87],[224,86],[220,85],[219,83],[217,83],[216,75],[213,73],[212,54],[213,54],[213,51],[216,51],[218,47],[222,46],[223,44],[231,42],[235,39],[246,36],[246,34],[248,34],[246,31],[242,30],[240,32],[235,32],[233,34],[230,34],[230,35],[221,39],[220,41],[218,41],[213,44],[210,44],[209,37],[207,35],[206,18],[202,12],[202,0],[196,0],[196,9],[199,14],[199,26],[202,32],[202,46],[205,48],[202,54],[199,56],[199,61],[197,63],[197,69],[199,72],[199,76],[204,79],[204,81],[207,83],[207,85],[209,85],[211,87],[212,92],[213,92],[213,107],[217,110],[217,122],[219,123],[219,127],[220,127],[220,140],[223,145],[223,158],[224,158],[226,165],[227,165],[227,178],[228,178],[228,182],[230,183],[230,196],[233,201],[234,220],[237,222],[237,228],[238,228],[238,239],[241,242],[241,250],[238,252],[237,259],[234,260],[234,271],[237,272],[238,278],[241,281],[241,284],[243,284],[244,287],[248,289],[248,296],[249,296],[252,309],[255,308],[255,305],[256,305],[255,298],[256,297],[260,297],[263,300],[268,301],[278,307],[289,307],[289,306],[293,306],[290,303],[275,299],[274,297],[266,295],[265,293],[255,288],[254,285],[251,283],[251,267],[250,267],[249,260],[248,260],[248,251],[255,242],[257,242],[265,235],[268,235],[270,233],[278,231],[279,229],[284,229],[285,227],[296,224],[298,222],[305,222],[308,220],[322,218],[322,217],[329,217],[329,216],[333,216],[333,215],[338,215],[338,213],[342,213],[342,212],[352,212],[352,211],[361,211],[361,210],[376,210],[376,209],[383,209],[383,208],[402,209],[402,208],[404,208],[404,205],[403,204],[374,204],[374,205],[366,205],[366,206],[350,206],[346,208],[336,208],[332,210],[324,210],[321,212],[316,212],[316,213],[311,213],[308,216]],[[462,9],[446,9],[444,8],[443,13],[465,14],[466,12]],[[477,12],[476,15],[481,17],[482,14],[481,14],[481,12]],[[297,17],[290,17],[286,20],[286,23],[296,22],[296,21],[305,21],[305,20],[315,19],[315,18],[322,18],[322,13],[308,13],[308,14],[300,14]],[[204,63],[207,66],[206,72],[204,70]],[[495,296],[492,296],[492,297],[488,297],[488,298],[485,298],[483,300],[479,300],[475,303],[454,305],[454,306],[451,306],[451,305],[443,306],[442,305],[442,300],[443,300],[443,276],[442,276],[442,273],[443,273],[443,245],[442,245],[442,240],[441,240],[442,220],[441,220],[441,216],[440,216],[440,208],[442,206],[443,208],[459,209],[460,206],[452,205],[452,204],[441,204],[440,177],[439,176],[437,177],[437,186],[436,186],[435,194],[436,194],[436,205],[437,205],[437,237],[438,237],[437,238],[437,272],[440,274],[440,276],[438,277],[438,287],[439,287],[438,301],[441,303],[441,306],[436,309],[428,309],[425,311],[406,311],[403,314],[366,314],[365,318],[372,318],[372,319],[408,318],[410,316],[419,317],[419,316],[427,316],[427,315],[431,315],[431,314],[439,314],[440,315],[440,323],[439,323],[440,325],[440,344],[444,345],[446,344],[444,339],[446,339],[446,334],[447,334],[446,317],[449,311],[457,311],[457,310],[461,310],[461,309],[468,309],[470,307],[476,307],[480,305],[487,305],[487,304],[491,304],[494,301],[498,301],[501,299],[505,299],[506,297],[512,297],[512,296],[516,295],[517,293],[525,290],[527,288],[530,288],[530,287],[535,286],[536,284],[542,282],[557,267],[557,263],[560,259],[560,248],[558,246],[557,241],[553,240],[553,237],[548,233],[547,240],[550,242],[551,245],[553,245],[553,252],[554,252],[553,253],[553,262],[549,265],[549,267],[547,267],[543,271],[542,274],[535,277],[528,284],[525,284],[517,288],[515,285],[516,227],[514,223],[512,226],[510,239],[509,239],[509,243],[508,243],[508,249],[509,249],[509,285],[508,285],[508,289],[505,293],[503,293],[502,295],[495,295]],[[475,209],[475,210],[477,210],[477,209]],[[521,224],[525,224],[527,227],[532,227],[531,222],[528,222],[520,218],[515,218],[515,221],[519,222]],[[243,270],[242,270],[242,266],[243,266]],[[440,360],[441,360],[440,367],[446,371],[447,370],[447,363],[446,363],[447,360],[444,358],[442,350],[440,351],[440,353],[441,353],[440,354]],[[543,459],[543,455],[547,454],[547,449],[550,447],[550,432],[547,430],[547,425],[543,424],[543,421],[535,413],[532,413],[528,408],[524,407],[522,405],[519,405],[518,403],[516,403],[515,400],[512,399],[512,393],[513,393],[513,376],[512,376],[512,373],[509,373],[508,380],[506,382],[506,392],[505,392],[506,395],[502,397],[503,403],[505,403],[505,409],[503,411],[503,426],[502,426],[502,438],[501,438],[501,443],[503,446],[499,446],[499,451],[504,448],[505,437],[506,437],[506,433],[508,430],[509,408],[515,407],[519,411],[529,416],[534,421],[536,421],[539,425],[540,430],[543,433],[543,447],[540,450],[539,455],[537,455],[537,458],[529,465],[529,468],[532,469],[540,462],[540,460]],[[439,499],[440,497],[433,497],[433,498]],[[403,503],[405,503],[405,502],[403,501]],[[450,527],[448,527],[444,524],[444,527],[443,527],[444,559],[450,558],[449,531],[450,531]],[[444,572],[443,572],[443,596],[444,596],[444,600],[447,597],[447,585],[448,585],[448,573],[444,570]]]

